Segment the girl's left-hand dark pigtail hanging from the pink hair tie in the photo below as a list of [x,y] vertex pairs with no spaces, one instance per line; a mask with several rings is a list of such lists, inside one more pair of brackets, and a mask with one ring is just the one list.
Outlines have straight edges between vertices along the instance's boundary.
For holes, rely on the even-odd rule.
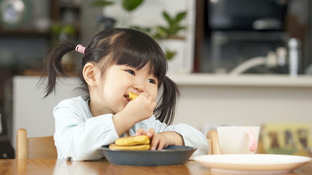
[[[69,75],[62,69],[62,58],[63,56],[71,51],[75,50],[76,45],[70,41],[61,40],[52,46],[49,51],[46,61],[41,71],[41,77],[37,84],[37,87],[43,87],[46,98],[52,92],[56,92],[56,80],[59,78],[66,78]],[[47,80],[46,80],[47,76]]]

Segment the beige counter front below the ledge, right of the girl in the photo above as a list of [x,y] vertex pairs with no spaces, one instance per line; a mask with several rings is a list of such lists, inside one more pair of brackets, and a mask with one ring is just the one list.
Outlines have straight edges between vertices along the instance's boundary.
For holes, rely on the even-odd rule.
[[310,123],[312,88],[181,86],[175,123],[207,133],[219,125]]

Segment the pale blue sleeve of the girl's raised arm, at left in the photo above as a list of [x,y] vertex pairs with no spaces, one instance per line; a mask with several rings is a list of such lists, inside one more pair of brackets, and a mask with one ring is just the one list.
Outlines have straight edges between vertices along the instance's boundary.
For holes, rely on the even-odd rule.
[[106,114],[85,120],[78,109],[55,107],[54,140],[62,157],[76,161],[102,158],[99,148],[119,138],[112,117]]

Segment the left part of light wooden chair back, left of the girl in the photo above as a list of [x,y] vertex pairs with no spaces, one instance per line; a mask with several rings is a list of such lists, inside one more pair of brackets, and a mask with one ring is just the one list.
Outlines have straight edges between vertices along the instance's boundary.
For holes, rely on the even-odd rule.
[[53,136],[27,138],[25,129],[17,130],[16,159],[56,159]]

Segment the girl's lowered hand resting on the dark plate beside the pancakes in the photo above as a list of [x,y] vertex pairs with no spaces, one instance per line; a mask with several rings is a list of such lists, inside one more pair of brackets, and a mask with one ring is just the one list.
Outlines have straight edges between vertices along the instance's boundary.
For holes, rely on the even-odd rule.
[[150,128],[147,132],[140,128],[135,132],[135,135],[147,135],[151,138],[151,150],[162,150],[170,145],[184,145],[184,141],[181,135],[171,131],[164,131],[161,133],[155,133],[153,128]]

